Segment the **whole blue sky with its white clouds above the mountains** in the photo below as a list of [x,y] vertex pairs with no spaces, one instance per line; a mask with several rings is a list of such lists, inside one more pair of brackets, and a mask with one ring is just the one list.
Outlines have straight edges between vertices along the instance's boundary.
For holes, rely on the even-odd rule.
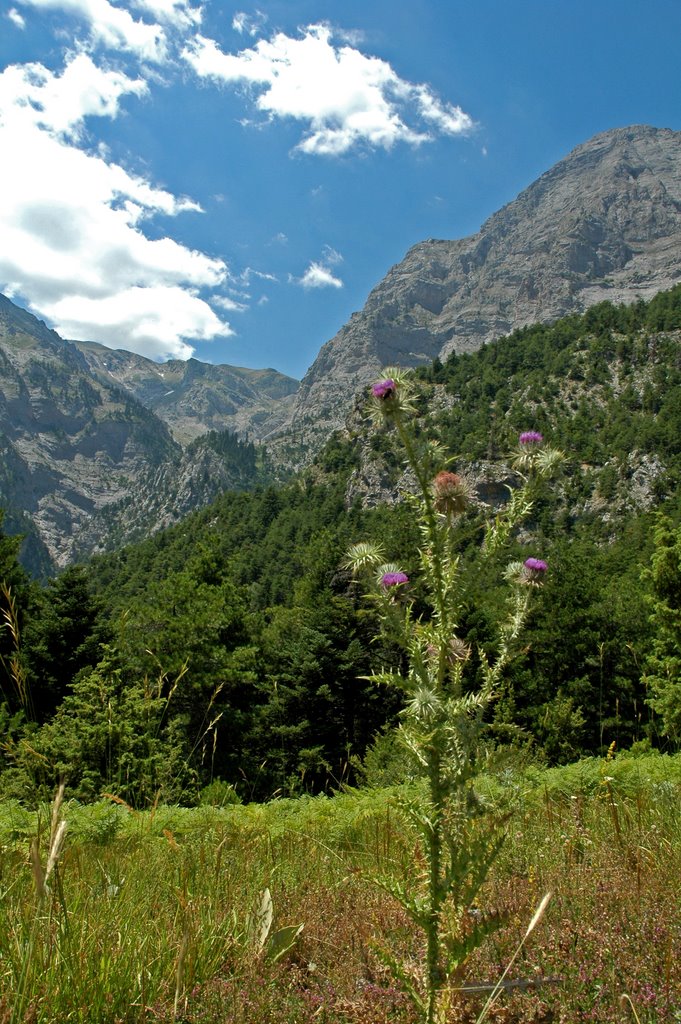
[[407,250],[681,129],[679,0],[0,0],[0,291],[302,377]]

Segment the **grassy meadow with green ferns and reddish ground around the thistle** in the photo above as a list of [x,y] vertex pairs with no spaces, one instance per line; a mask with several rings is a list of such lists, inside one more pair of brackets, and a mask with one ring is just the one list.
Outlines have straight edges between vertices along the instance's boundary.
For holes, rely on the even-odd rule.
[[[547,891],[509,979],[558,981],[511,985],[487,1020],[681,1021],[681,758],[507,772],[490,790],[516,809],[480,909],[508,924],[467,982],[499,978]],[[67,802],[43,894],[29,851],[40,836],[46,863],[50,808],[1,805],[0,1022],[412,1024],[377,947],[415,973],[422,950],[368,878],[419,867],[395,795],[143,814]],[[272,932],[304,925],[279,959],[248,927],[265,888]],[[455,1000],[452,1022],[485,998]]]

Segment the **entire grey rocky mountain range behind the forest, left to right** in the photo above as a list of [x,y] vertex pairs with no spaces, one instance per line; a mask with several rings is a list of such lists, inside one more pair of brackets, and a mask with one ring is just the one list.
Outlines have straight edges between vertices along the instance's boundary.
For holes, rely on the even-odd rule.
[[66,565],[262,479],[252,441],[280,471],[309,462],[385,366],[680,280],[681,132],[635,126],[578,146],[476,234],[416,245],[300,386],[65,341],[0,298],[0,508],[35,571]]

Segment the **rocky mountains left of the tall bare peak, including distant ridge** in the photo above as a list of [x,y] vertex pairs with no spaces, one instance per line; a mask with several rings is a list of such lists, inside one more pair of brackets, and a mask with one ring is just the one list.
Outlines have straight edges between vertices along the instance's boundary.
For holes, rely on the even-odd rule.
[[0,508],[24,561],[42,574],[253,483],[255,446],[225,431],[257,434],[295,385],[76,345],[0,296]]

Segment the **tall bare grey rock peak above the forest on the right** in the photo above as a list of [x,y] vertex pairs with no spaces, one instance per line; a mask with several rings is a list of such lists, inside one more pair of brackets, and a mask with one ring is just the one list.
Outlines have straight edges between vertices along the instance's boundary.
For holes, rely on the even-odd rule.
[[383,367],[471,351],[604,299],[650,298],[679,280],[681,132],[604,132],[477,234],[414,246],[324,345],[274,451],[288,445],[300,458],[318,447]]

